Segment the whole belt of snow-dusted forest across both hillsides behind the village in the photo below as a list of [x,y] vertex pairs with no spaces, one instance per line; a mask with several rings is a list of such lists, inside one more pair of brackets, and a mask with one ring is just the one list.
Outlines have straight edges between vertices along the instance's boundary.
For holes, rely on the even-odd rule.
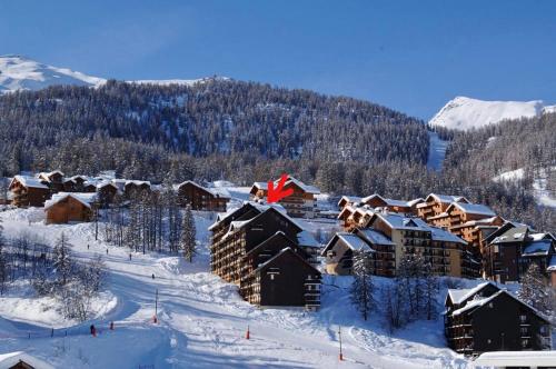
[[453,142],[445,169],[433,172],[426,168],[426,126],[367,101],[224,79],[166,87],[108,81],[95,89],[1,96],[0,171],[116,169],[155,182],[238,184],[287,171],[337,195],[459,193],[507,219],[550,230],[554,211],[537,207],[530,180],[492,179],[503,170],[554,163],[554,120],[544,114],[443,131]]

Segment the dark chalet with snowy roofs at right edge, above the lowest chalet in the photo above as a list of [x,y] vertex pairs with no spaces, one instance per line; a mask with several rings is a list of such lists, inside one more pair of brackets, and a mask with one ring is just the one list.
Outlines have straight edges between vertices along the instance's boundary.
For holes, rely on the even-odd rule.
[[484,250],[485,278],[497,282],[519,281],[532,262],[553,279],[553,258],[556,238],[552,233],[535,232],[526,225],[506,222],[487,238]]

